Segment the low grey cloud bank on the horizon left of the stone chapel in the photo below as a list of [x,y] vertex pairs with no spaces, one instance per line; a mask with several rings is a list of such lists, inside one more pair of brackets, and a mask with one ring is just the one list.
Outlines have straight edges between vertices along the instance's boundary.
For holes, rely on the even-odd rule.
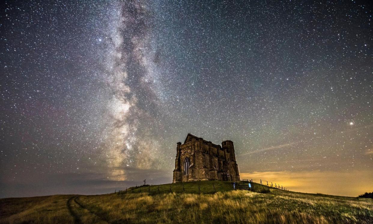
[[[0,198],[31,197],[55,194],[84,194],[96,195],[112,193],[115,190],[126,189],[143,184],[171,183],[172,174],[164,170],[150,170],[138,168],[121,168],[130,173],[134,179],[115,180],[107,173],[56,173],[47,176],[8,180],[0,182]],[[31,178],[31,177],[30,177]]]

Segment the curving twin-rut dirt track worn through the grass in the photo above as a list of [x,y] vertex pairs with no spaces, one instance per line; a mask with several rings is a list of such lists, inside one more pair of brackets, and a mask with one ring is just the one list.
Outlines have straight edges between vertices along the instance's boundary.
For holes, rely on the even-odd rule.
[[99,223],[107,224],[108,222],[101,219],[98,215],[89,211],[81,203],[77,201],[79,196],[72,196],[67,202],[67,206],[71,216],[74,218],[75,224],[82,223]]

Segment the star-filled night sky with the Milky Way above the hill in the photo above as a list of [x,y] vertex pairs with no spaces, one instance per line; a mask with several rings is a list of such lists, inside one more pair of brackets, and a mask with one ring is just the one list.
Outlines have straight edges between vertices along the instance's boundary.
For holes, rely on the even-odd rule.
[[369,1],[6,1],[0,16],[0,197],[170,183],[187,133],[232,140],[244,179],[373,190]]

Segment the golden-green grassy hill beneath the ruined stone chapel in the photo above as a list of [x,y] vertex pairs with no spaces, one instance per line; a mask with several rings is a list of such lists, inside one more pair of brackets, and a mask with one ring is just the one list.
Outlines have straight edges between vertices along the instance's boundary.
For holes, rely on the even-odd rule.
[[254,191],[209,181],[132,187],[107,195],[6,198],[0,199],[0,223],[373,223],[372,199],[259,184]]

